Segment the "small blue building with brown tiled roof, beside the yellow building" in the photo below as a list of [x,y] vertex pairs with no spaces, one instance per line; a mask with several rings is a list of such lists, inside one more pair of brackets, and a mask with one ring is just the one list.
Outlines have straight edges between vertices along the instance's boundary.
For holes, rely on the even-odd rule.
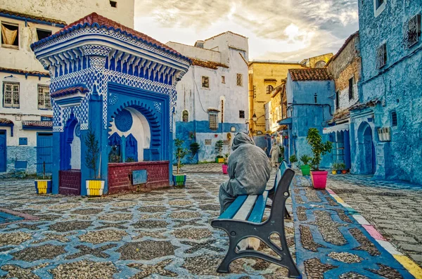
[[[288,126],[284,137],[285,156],[312,155],[307,143],[309,128],[322,130],[326,122],[333,118],[334,81],[326,68],[290,69],[286,82],[287,118],[279,124]],[[323,141],[328,135],[322,136]],[[322,157],[321,167],[329,167],[333,162],[331,154]]]

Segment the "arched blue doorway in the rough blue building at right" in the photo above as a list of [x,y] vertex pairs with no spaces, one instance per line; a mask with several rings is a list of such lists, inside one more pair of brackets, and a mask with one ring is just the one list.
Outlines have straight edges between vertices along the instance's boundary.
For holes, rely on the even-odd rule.
[[360,159],[360,174],[374,174],[375,173],[375,147],[373,145],[372,128],[367,122],[363,122],[359,126],[359,159]]

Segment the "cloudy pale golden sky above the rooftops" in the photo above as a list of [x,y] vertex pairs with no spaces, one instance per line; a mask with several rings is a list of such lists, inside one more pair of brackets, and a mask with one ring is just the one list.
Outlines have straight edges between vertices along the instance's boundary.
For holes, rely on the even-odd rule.
[[359,29],[357,0],[135,0],[135,29],[192,45],[222,32],[248,37],[249,60],[336,53]]

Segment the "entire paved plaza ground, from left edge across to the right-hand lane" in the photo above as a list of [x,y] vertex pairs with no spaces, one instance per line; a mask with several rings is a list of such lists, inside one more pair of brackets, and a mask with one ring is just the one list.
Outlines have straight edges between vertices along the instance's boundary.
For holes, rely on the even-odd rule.
[[[210,220],[219,215],[218,187],[227,176],[219,164],[183,171],[188,174],[183,189],[98,198],[35,195],[32,180],[0,181],[0,208],[6,211],[0,216],[0,277],[284,278],[286,269],[259,259],[238,259],[230,274],[215,273],[228,238]],[[269,186],[273,183],[274,171]],[[328,187],[421,266],[421,187],[352,175],[330,176]],[[286,236],[294,258],[298,246],[298,266],[307,278],[329,278],[342,264],[359,264],[359,259],[361,265],[371,264],[364,273],[342,271],[338,277],[399,278],[406,273],[369,235],[357,231],[361,226],[326,191],[312,189],[308,178],[297,175],[291,192],[288,210],[295,209],[295,221],[286,220]],[[327,218],[319,209],[339,217]],[[13,219],[15,212],[25,220]],[[356,249],[347,248],[346,242],[354,242],[346,229],[354,233]],[[331,245],[339,248],[331,251]],[[321,256],[324,249],[331,251],[329,257]]]

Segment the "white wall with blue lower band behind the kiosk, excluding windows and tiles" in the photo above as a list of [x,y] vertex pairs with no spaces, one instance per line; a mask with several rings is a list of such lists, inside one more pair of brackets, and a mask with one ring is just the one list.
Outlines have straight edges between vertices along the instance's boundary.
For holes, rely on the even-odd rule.
[[[235,37],[239,36],[235,35]],[[174,138],[183,139],[186,143],[186,148],[193,141],[199,143],[201,149],[198,153],[198,160],[200,162],[215,160],[217,156],[215,143],[219,140],[227,141],[229,138],[232,139],[234,137],[234,133],[230,131],[232,126],[236,128],[236,132],[248,132],[248,125],[245,124],[245,121],[249,119],[248,65],[244,60],[245,57],[248,57],[248,39],[241,37],[244,45],[239,46],[239,48],[241,47],[245,51],[239,51],[236,48],[229,47],[231,44],[238,44],[236,40],[233,42],[228,40],[231,39],[231,36],[222,35],[221,38],[216,38],[212,39],[212,44],[207,44],[207,41],[205,41],[204,47],[217,47],[219,52],[177,43],[168,43],[169,46],[184,56],[196,59],[201,57],[203,59],[200,60],[213,62],[221,61],[224,65],[229,66],[229,68],[217,67],[217,70],[198,65],[191,66],[176,86],[177,108],[174,121],[177,123],[175,125]],[[220,59],[216,58],[215,53],[219,53]],[[242,74],[242,86],[237,85],[237,74]],[[202,88],[203,76],[210,78],[209,89]],[[222,83],[222,76],[225,78],[225,83]],[[209,129],[207,109],[217,108],[221,110],[222,100],[224,100],[224,124],[220,124],[222,129],[212,131]],[[187,124],[182,122],[183,110],[188,110],[189,112],[189,122]],[[244,111],[245,118],[239,117],[240,110]],[[221,112],[219,112],[218,122],[221,123],[221,119]],[[196,133],[194,139],[190,138],[189,134],[191,132]],[[211,141],[211,144],[206,145],[205,140]],[[228,143],[228,145],[224,145],[222,154],[229,153],[231,141],[228,141]],[[189,160],[186,162],[189,162]]]

